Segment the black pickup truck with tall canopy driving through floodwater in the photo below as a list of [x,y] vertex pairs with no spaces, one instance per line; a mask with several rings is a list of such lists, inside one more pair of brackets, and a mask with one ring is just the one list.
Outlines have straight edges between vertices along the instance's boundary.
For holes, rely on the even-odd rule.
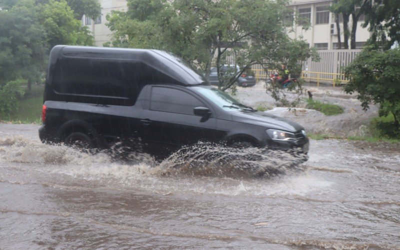
[[308,150],[301,125],[239,103],[160,50],[55,46],[42,112],[43,142],[122,141],[161,156],[198,141]]

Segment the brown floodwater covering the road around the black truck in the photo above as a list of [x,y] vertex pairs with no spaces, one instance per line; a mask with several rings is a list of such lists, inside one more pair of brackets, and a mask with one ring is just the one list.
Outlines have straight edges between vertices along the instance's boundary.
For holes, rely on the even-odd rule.
[[398,144],[311,140],[300,167],[271,152],[284,171],[225,175],[237,165],[115,161],[37,128],[0,124],[1,249],[400,249]]

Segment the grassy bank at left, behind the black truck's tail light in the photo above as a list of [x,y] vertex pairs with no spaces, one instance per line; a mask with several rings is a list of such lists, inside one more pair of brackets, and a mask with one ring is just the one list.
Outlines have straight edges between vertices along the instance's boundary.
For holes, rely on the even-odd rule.
[[9,114],[0,113],[0,121],[40,124],[43,90],[43,84],[33,84],[31,91],[26,92],[26,94],[18,100],[17,110]]

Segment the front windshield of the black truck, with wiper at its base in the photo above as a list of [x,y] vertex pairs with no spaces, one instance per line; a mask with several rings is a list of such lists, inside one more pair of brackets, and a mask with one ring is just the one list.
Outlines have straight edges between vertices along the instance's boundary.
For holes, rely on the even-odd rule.
[[240,103],[229,94],[215,87],[195,86],[192,88],[194,88],[197,92],[206,97],[208,100],[215,103],[217,106],[224,109],[244,109],[255,111],[252,107]]

